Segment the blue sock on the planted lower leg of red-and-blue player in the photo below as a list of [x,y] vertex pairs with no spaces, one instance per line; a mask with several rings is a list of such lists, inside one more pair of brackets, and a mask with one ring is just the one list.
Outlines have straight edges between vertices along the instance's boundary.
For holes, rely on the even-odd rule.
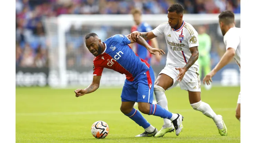
[[142,126],[144,129],[150,126],[150,123],[148,123],[147,120],[140,114],[140,112],[134,108],[132,108],[129,114],[125,115],[131,118],[131,120],[134,120],[134,122],[136,122],[139,126]]

